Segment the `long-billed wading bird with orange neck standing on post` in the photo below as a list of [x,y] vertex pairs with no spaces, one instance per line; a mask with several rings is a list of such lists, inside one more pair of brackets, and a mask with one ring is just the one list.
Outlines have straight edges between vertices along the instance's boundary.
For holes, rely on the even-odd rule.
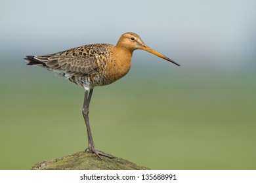
[[110,154],[97,150],[89,124],[89,105],[96,86],[112,84],[127,75],[131,68],[133,51],[144,50],[175,65],[179,63],[167,58],[160,52],[147,46],[137,33],[123,33],[116,46],[113,44],[87,44],[54,54],[26,56],[27,65],[36,65],[63,76],[84,89],[83,118],[87,127],[88,147],[91,152],[102,160],[101,156],[115,158]]

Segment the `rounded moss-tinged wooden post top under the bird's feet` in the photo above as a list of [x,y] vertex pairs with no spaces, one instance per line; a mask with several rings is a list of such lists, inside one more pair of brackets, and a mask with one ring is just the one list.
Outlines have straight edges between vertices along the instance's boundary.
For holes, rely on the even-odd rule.
[[95,154],[76,152],[60,158],[49,159],[33,165],[32,170],[147,170],[130,161],[121,158],[98,159]]

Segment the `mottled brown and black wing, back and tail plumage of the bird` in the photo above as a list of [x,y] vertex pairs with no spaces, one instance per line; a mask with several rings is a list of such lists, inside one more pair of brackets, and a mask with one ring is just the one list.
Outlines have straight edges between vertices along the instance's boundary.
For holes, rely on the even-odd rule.
[[98,73],[104,61],[110,59],[111,44],[89,44],[64,52],[45,56],[26,56],[28,65],[41,65],[64,75],[89,75]]

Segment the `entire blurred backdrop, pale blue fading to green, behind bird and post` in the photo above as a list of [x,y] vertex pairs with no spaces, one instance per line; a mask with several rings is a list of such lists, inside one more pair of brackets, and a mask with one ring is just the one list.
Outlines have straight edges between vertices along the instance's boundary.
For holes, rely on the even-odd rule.
[[181,67],[135,51],[127,76],[95,88],[96,148],[151,169],[256,169],[255,4],[3,3],[0,169],[30,169],[87,147],[83,89],[24,56],[116,44],[127,31]]

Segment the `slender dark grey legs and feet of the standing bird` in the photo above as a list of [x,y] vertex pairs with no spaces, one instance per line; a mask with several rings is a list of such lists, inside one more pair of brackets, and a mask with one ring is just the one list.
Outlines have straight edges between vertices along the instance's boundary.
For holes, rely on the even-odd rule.
[[91,134],[91,127],[89,124],[89,105],[91,101],[91,96],[93,95],[93,89],[90,90],[88,94],[88,90],[85,90],[85,98],[83,101],[83,118],[85,119],[85,125],[87,127],[87,137],[88,137],[88,148],[85,150],[86,152],[94,152],[98,158],[102,160],[100,155],[106,156],[108,158],[114,158],[109,154],[96,150],[95,143],[93,142],[93,135]]

